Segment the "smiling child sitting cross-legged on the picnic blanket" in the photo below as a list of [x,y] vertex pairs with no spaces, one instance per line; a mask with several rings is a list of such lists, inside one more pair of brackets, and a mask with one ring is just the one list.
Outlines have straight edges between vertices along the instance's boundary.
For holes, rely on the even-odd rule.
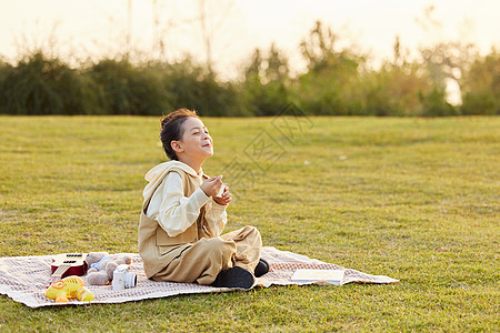
[[[139,223],[139,254],[148,279],[249,289],[269,270],[253,226],[221,235],[231,201],[222,175],[201,169],[213,141],[196,112],[179,109],[161,120],[171,160],[146,174],[149,184]],[[218,193],[221,195],[218,195]],[[257,268],[257,270],[256,270]]]

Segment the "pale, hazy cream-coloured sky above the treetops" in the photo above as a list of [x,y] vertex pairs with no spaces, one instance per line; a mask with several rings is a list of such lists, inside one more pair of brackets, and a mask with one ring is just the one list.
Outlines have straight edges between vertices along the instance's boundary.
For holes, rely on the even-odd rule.
[[[418,20],[430,6],[442,26],[427,30]],[[391,57],[396,36],[413,54],[439,40],[473,42],[483,54],[500,49],[499,13],[498,0],[0,0],[0,56],[13,61],[43,47],[83,60],[130,48],[138,57],[206,61],[208,36],[214,68],[228,77],[272,42],[300,71],[298,46],[316,20],[377,63]]]

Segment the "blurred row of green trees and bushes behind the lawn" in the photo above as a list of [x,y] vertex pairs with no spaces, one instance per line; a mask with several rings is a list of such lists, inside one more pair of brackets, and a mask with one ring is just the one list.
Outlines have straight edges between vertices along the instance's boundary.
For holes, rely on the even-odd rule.
[[[314,115],[443,117],[500,113],[500,56],[462,42],[439,42],[410,59],[394,41],[377,69],[369,54],[341,47],[316,22],[300,44],[307,69],[291,73],[276,46],[256,50],[239,79],[220,80],[210,63],[132,61],[121,56],[70,65],[38,49],[0,61],[0,113],[160,115],[180,107],[202,115],[273,115],[294,102]],[[52,54],[52,56],[49,56]],[[447,101],[454,83],[463,103]]]

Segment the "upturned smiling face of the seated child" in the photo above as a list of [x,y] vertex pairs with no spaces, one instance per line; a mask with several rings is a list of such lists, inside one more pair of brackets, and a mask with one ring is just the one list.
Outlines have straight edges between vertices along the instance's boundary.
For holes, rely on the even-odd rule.
[[179,140],[182,152],[193,159],[206,160],[213,155],[213,141],[203,122],[190,117],[182,124],[182,139]]

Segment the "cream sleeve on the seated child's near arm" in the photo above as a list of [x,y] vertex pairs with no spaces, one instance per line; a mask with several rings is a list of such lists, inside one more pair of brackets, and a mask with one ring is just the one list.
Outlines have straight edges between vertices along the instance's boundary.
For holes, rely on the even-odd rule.
[[[154,202],[158,203],[158,196],[161,195],[158,212],[156,212],[154,208],[150,212],[148,208],[148,216],[157,220],[160,226],[171,238],[181,234],[191,226],[197,221],[200,209],[210,201],[210,196],[207,196],[200,188],[189,198],[183,194],[184,191],[180,175],[177,172],[170,172],[151,198],[150,205]],[[153,199],[156,200],[153,201]]]

